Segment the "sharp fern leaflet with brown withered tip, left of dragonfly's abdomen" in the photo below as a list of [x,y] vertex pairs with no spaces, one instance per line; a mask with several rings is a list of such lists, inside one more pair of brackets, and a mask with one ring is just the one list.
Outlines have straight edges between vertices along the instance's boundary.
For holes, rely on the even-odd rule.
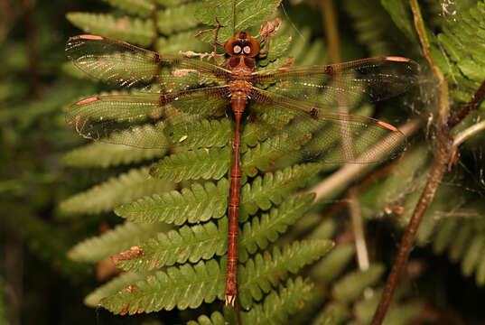
[[222,218],[218,225],[208,222],[203,225],[184,226],[171,230],[136,246],[133,250],[111,256],[111,260],[125,271],[146,272],[164,265],[199,262],[227,251],[228,219]]

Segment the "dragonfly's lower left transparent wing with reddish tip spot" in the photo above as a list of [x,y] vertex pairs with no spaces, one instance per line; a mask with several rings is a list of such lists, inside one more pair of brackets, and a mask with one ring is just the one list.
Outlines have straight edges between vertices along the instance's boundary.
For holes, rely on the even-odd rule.
[[[73,104],[66,112],[66,122],[85,138],[141,148],[167,148],[178,142],[191,142],[187,136],[192,123],[224,116],[228,96],[228,86],[164,95],[96,96]],[[165,137],[158,139],[164,140],[154,141],[156,137],[147,137],[147,132],[162,132]]]

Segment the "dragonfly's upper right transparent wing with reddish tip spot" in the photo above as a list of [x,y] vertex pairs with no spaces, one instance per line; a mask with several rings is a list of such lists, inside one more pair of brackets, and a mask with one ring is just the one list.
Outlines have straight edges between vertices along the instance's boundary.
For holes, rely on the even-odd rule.
[[254,84],[316,107],[350,106],[406,92],[417,80],[418,64],[401,57],[378,57],[333,65],[297,66],[253,73]]

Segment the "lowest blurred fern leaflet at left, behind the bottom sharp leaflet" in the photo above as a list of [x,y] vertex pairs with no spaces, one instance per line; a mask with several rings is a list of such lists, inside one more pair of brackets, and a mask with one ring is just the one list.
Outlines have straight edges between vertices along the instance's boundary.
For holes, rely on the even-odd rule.
[[148,274],[135,274],[126,272],[99,286],[94,292],[84,298],[84,303],[89,307],[97,307],[101,299],[125,289],[129,285],[144,280]]

